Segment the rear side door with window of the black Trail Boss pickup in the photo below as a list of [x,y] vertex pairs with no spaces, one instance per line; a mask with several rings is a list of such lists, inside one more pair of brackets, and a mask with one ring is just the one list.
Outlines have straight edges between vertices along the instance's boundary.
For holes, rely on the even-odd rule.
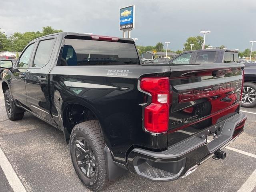
[[48,93],[48,73],[53,62],[56,36],[40,39],[26,73],[26,103],[30,110],[52,122],[50,118],[50,98]]

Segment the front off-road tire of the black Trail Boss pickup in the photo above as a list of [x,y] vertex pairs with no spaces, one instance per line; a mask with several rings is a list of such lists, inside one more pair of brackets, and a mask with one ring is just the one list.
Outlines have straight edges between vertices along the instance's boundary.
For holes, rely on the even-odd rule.
[[[6,92],[4,93],[4,104],[7,116],[10,120],[15,121],[23,118],[24,112],[20,112],[22,110],[15,106],[10,94],[10,90],[6,90]],[[17,113],[17,111],[19,113]]]

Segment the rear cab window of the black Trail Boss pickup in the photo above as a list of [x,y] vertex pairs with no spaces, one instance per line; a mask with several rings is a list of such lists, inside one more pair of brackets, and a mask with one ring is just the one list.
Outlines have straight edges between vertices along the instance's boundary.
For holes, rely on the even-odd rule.
[[59,66],[140,64],[134,44],[65,39]]

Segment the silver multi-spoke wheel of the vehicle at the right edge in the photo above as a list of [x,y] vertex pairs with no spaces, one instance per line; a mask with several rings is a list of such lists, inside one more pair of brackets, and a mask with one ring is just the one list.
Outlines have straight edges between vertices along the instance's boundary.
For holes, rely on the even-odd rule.
[[256,106],[256,84],[251,82],[244,83],[241,106],[248,108]]

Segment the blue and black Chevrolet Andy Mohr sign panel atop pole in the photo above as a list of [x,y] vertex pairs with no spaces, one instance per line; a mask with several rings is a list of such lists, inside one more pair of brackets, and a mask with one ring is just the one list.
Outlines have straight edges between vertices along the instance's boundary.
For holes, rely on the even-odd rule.
[[130,31],[134,29],[135,6],[120,8],[119,10],[119,29],[122,31]]

